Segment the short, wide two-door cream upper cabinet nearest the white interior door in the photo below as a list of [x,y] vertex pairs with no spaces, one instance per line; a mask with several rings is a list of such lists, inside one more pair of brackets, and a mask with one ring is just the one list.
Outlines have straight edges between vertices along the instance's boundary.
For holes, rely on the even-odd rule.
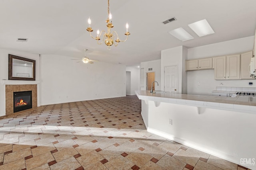
[[187,60],[186,70],[212,69],[212,58]]

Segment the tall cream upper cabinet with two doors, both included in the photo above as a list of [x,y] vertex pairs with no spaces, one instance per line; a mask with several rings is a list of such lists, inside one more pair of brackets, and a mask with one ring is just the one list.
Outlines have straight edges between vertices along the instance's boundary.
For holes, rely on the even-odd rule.
[[240,54],[215,57],[214,78],[216,80],[240,79]]

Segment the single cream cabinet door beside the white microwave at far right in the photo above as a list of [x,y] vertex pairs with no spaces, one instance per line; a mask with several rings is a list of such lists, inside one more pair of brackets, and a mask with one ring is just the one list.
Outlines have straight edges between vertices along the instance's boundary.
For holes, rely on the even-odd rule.
[[252,79],[249,71],[249,64],[252,58],[252,51],[241,54],[241,79]]

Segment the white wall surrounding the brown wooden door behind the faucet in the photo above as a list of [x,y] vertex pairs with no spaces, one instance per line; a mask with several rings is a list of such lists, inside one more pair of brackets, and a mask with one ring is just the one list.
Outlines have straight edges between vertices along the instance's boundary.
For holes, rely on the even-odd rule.
[[[161,90],[161,60],[142,62],[140,68],[144,68],[144,87],[140,87],[140,90],[146,90],[147,72],[155,72],[155,80],[158,82],[158,86],[155,85],[155,90]],[[152,68],[152,70],[148,71],[148,68]]]

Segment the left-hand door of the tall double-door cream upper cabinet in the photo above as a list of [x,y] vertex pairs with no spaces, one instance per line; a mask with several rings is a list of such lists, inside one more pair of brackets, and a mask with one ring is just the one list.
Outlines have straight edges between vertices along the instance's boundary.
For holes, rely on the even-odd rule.
[[214,78],[226,79],[226,56],[214,57]]

